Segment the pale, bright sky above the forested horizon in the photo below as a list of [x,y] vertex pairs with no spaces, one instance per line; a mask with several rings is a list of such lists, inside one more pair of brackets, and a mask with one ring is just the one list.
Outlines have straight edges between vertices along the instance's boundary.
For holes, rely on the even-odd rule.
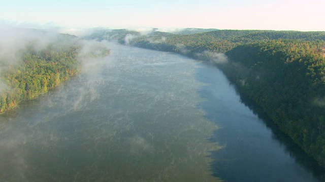
[[28,28],[325,31],[324,8],[324,0],[2,0],[0,21]]

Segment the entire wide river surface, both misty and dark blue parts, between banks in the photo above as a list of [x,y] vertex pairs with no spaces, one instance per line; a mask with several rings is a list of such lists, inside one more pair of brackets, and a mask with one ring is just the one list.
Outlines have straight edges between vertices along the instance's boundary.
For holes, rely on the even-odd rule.
[[218,69],[109,48],[80,76],[0,115],[0,181],[321,181]]

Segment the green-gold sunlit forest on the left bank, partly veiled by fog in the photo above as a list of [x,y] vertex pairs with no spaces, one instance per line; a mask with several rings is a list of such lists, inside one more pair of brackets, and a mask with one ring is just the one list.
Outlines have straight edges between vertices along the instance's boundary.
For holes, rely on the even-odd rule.
[[[36,33],[45,38],[43,35],[46,32]],[[39,44],[42,40],[36,36],[28,41],[23,38],[18,41],[24,45],[15,50],[16,61],[5,56],[0,58],[0,112],[10,110],[69,79],[80,70],[83,58],[109,54],[109,50],[99,43],[93,44],[96,47],[92,49],[84,50],[86,41],[66,34],[51,37],[42,47]]]

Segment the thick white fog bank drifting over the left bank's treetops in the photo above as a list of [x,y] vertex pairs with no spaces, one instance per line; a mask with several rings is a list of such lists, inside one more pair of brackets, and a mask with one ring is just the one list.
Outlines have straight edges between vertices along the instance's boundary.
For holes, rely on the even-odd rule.
[[[24,28],[0,22],[0,39],[2,40],[0,41],[0,75],[4,71],[14,69],[15,65],[22,64],[24,61],[22,56],[30,51],[30,48],[32,48],[32,54],[37,55],[53,44],[57,44],[62,51],[68,51],[77,45],[81,69],[86,69],[85,65],[89,62],[94,62],[96,59],[109,54],[108,48],[101,42],[62,34],[60,33],[62,30],[57,27],[52,29],[47,27],[42,29]],[[89,32],[90,30],[83,30],[83,33]],[[0,77],[0,94],[9,88],[5,79],[3,75]]]

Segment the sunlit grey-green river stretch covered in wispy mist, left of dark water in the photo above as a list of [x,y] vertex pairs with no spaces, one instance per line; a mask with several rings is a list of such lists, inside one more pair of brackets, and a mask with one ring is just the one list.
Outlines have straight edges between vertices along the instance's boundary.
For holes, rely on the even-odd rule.
[[0,115],[0,180],[218,180],[198,63],[108,46],[79,76]]

